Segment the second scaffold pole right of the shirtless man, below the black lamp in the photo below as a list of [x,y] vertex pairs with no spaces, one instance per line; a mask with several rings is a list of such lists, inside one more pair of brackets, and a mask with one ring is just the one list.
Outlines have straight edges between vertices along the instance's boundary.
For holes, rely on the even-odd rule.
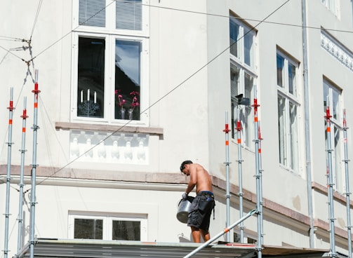
[[[238,104],[238,109],[237,109],[237,127],[235,128],[237,130],[237,137],[238,137],[238,170],[239,170],[239,217],[243,217],[243,168],[242,168],[242,162],[243,160],[241,159],[241,121],[240,121],[240,105]],[[241,221],[239,224],[239,229],[240,229],[240,243],[244,243],[244,222]]]

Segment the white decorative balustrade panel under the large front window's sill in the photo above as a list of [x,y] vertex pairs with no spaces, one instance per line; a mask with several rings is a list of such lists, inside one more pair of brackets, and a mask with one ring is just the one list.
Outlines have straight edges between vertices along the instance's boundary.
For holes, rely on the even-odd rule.
[[70,130],[70,158],[102,163],[148,164],[149,135]]

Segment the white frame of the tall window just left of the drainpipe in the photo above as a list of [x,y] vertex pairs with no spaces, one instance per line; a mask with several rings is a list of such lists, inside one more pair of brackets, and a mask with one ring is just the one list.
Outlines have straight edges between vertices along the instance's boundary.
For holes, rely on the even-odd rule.
[[[282,119],[282,127],[279,127],[279,165],[286,170],[289,170],[295,174],[300,174],[300,101],[298,99],[298,80],[295,80],[293,94],[290,93],[290,83],[288,67],[289,65],[295,67],[295,76],[298,76],[298,62],[295,62],[291,57],[277,50],[277,56],[280,55],[284,59],[284,67],[282,75],[282,86],[277,85],[277,108],[279,109],[278,98],[284,99],[284,118]],[[295,78],[296,79],[296,78]],[[294,130],[296,134],[292,132],[291,127],[291,107],[296,108],[296,124]],[[277,115],[279,119],[279,113]],[[279,121],[280,123],[280,121]],[[279,125],[280,126],[280,125]],[[281,133],[280,130],[283,129],[285,132]],[[296,139],[293,139],[296,137]],[[282,146],[282,147],[281,147]]]

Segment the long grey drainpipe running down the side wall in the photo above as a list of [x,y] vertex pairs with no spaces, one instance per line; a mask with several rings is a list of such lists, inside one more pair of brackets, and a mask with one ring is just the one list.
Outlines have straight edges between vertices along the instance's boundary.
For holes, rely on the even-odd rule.
[[305,161],[307,170],[307,211],[310,219],[309,241],[310,248],[314,248],[314,218],[312,213],[312,163],[310,150],[310,125],[309,125],[309,83],[307,79],[307,11],[306,1],[302,0],[302,66],[304,77],[304,109],[305,109]]

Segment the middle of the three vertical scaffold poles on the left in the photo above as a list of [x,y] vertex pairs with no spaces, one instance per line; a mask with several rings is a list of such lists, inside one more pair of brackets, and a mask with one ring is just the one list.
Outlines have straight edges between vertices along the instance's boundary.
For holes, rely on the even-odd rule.
[[23,113],[22,113],[22,147],[21,151],[21,168],[20,168],[20,201],[18,201],[18,247],[17,251],[20,252],[22,248],[22,217],[23,217],[23,182],[24,170],[25,170],[25,145],[26,145],[26,118],[27,116],[27,97],[23,100]]

